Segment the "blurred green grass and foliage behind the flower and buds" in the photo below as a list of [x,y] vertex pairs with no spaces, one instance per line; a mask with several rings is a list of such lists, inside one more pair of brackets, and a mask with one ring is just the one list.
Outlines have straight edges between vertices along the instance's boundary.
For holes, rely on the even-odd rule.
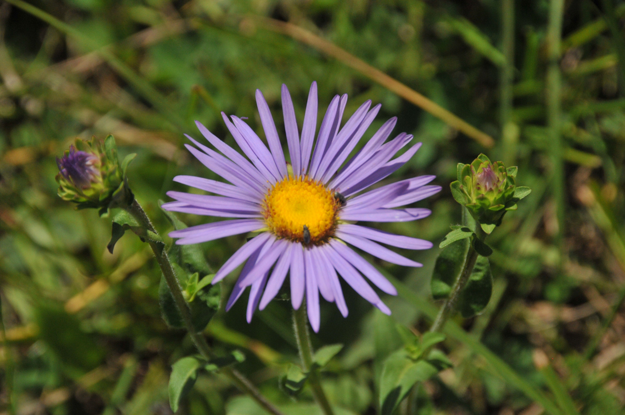
[[[456,317],[462,329],[453,324],[447,331],[442,348],[454,367],[410,395],[414,408],[404,402],[399,410],[537,415],[542,407],[527,393],[529,386],[559,402],[562,413],[622,413],[624,2],[31,4],[58,22],[0,5],[3,413],[10,413],[12,401],[18,414],[169,414],[171,364],[194,353],[184,333],[161,319],[160,271],[148,247],[128,234],[109,254],[110,220],[96,211],[74,211],[56,196],[54,157],[76,136],[114,134],[122,158],[138,153],[129,168],[131,187],[166,233],[171,224],[157,201],[170,189],[184,189],[171,179],[213,178],[184,150],[183,133],[199,136],[193,121],[233,143],[219,111],[248,117],[260,130],[255,89],[279,120],[279,91],[286,83],[301,123],[315,80],[320,109],[337,93],[350,96],[347,115],[372,99],[382,103],[372,131],[398,116],[395,131],[423,142],[392,179],[436,174],[443,191],[420,202],[433,213],[382,229],[437,246],[449,224],[460,220],[448,187],[456,163],[470,163],[481,152],[518,165],[517,183],[533,189],[489,240],[494,282],[486,311]],[[419,91],[492,136],[494,147],[457,133],[351,68],[344,51],[327,56],[292,39],[280,21]],[[204,221],[181,219],[189,225]],[[242,240],[206,242],[202,250],[217,269]],[[425,266],[376,262],[397,279],[399,296],[384,298],[391,317],[351,289],[346,319],[334,306],[321,307],[314,343],[345,345],[323,378],[344,413],[376,413],[381,362],[402,344],[396,322],[422,332],[436,311],[429,279],[439,249],[404,253]],[[232,283],[226,282],[224,294]],[[272,302],[252,324],[245,322],[244,307],[239,301],[212,319],[205,331],[212,346],[243,351],[239,369],[288,413],[315,413],[307,390],[294,399],[279,387],[287,363],[297,359],[290,303]],[[224,378],[202,374],[178,413],[259,411]]]

